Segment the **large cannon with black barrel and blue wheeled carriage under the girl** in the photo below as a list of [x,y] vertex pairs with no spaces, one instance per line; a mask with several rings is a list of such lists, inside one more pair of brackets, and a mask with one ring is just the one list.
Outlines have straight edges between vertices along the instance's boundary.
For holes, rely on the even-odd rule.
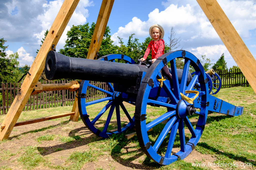
[[[176,69],[176,58],[184,59],[182,70]],[[167,80],[161,73],[167,63],[170,63],[172,80]],[[193,76],[189,72],[190,67],[195,70]],[[181,74],[178,76],[178,73]],[[162,165],[184,159],[191,153],[204,131],[208,111],[231,116],[243,113],[243,107],[233,106],[209,95],[208,79],[202,64],[184,50],[168,52],[157,58],[150,67],[138,65],[128,56],[119,54],[88,60],[50,51],[46,58],[45,74],[49,80],[83,80],[78,91],[78,107],[86,127],[95,135],[108,138],[135,125],[142,150],[150,159]],[[106,82],[106,86],[97,86],[89,80]],[[106,97],[86,102],[89,88],[103,92]],[[135,112],[130,111],[130,104],[125,103],[135,105]],[[147,109],[155,107],[162,110],[161,114],[149,115]],[[90,114],[94,109],[99,111]],[[104,121],[103,116],[106,117]],[[194,123],[191,123],[192,117]],[[161,129],[154,137],[148,132],[153,127]],[[189,139],[185,135],[185,128],[190,133]],[[174,144],[175,152],[172,151]]]

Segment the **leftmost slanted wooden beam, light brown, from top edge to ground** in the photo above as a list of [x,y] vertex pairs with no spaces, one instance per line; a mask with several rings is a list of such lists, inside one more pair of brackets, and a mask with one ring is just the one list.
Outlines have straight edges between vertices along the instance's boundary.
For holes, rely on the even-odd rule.
[[[64,29],[66,28],[69,19],[71,18],[79,0],[65,0],[55,18],[49,33],[45,37],[44,43],[42,44],[37,56],[32,63],[29,74],[27,74],[25,80],[22,83],[21,90],[15,97],[8,113],[5,116],[2,125],[5,125],[4,129],[1,129],[0,140],[7,139],[12,132],[14,125],[16,124],[20,113],[22,112],[25,104],[31,95],[36,83],[45,66],[45,59],[47,53],[55,48],[57,45]],[[31,28],[32,29],[32,28]]]

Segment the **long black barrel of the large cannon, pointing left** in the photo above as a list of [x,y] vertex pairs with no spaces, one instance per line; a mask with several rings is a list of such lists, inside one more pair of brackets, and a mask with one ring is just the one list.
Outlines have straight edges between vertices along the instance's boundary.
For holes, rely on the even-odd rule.
[[139,72],[147,70],[143,65],[73,58],[55,51],[49,51],[45,62],[48,80],[79,79],[135,85]]

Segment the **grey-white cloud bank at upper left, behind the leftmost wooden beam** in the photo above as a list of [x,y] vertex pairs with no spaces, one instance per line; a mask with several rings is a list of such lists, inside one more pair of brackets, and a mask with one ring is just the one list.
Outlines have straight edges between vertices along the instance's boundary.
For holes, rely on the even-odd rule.
[[[31,65],[36,50],[40,48],[44,33],[50,29],[64,0],[1,0],[0,2],[0,38],[7,40],[9,49],[19,49],[20,65]],[[88,6],[91,0],[80,0],[73,12],[68,26],[64,30],[57,48],[63,48],[67,31],[72,25],[84,24],[89,16]],[[23,48],[24,47],[24,48]],[[26,52],[24,51],[26,49]]]

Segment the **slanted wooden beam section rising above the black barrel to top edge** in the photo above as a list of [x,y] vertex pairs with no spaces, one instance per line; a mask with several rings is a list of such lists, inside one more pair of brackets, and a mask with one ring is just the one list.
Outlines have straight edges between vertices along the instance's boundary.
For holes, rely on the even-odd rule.
[[109,20],[110,12],[112,10],[114,0],[103,0],[100,7],[99,16],[95,24],[94,32],[90,47],[88,49],[87,59],[97,59],[98,52],[105,29]]

